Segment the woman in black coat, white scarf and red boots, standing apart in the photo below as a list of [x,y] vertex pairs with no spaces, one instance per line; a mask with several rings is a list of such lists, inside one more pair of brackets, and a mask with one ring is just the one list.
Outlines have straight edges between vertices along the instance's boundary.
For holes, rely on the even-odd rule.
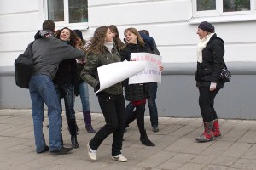
[[197,45],[196,86],[199,89],[199,105],[204,122],[204,133],[197,137],[198,142],[207,142],[221,135],[218,116],[214,110],[214,98],[224,82],[218,80],[224,68],[224,41],[214,33],[214,26],[201,22],[196,32],[200,38]]

